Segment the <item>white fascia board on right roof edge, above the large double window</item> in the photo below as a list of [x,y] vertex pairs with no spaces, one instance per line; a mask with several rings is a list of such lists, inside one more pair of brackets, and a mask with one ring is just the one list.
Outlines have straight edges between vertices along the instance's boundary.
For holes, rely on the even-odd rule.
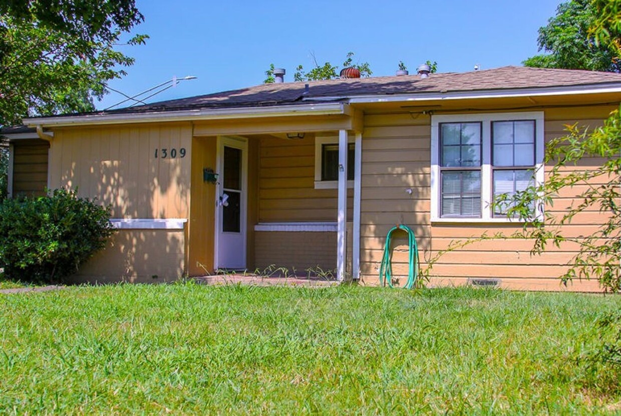
[[[413,94],[384,94],[363,95],[350,97],[350,104],[372,104],[374,102],[415,102],[451,99],[474,98],[510,98],[536,96],[562,96],[569,94],[601,94],[621,93],[620,83],[600,85],[572,85],[546,88],[515,88],[515,89],[487,89],[481,91],[446,91],[440,93],[413,93]],[[322,97],[327,101],[343,99],[343,97]]]

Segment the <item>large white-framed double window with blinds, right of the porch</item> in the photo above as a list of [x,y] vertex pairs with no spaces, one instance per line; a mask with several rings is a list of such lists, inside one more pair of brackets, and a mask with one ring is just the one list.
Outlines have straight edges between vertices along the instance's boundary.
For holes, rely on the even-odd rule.
[[543,112],[434,115],[432,220],[511,220],[510,196],[543,181],[542,161]]

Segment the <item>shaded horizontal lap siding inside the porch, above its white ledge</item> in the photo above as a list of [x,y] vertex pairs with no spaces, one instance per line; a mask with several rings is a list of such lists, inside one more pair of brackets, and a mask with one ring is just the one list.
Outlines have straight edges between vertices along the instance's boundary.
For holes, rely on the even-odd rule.
[[[315,138],[261,138],[259,222],[336,221],[337,189],[315,189]],[[353,207],[348,192],[347,212]]]

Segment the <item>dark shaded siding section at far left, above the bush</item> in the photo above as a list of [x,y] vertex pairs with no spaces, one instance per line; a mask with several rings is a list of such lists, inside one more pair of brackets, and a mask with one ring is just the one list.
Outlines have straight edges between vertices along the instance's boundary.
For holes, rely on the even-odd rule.
[[48,150],[44,140],[19,140],[13,145],[13,196],[42,196],[47,187]]

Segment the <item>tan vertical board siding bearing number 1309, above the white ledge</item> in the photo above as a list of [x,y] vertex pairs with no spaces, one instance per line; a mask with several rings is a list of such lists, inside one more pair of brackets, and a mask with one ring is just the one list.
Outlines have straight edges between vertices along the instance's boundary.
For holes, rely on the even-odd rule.
[[[111,205],[114,218],[188,218],[191,140],[189,123],[58,129],[50,186],[97,197]],[[168,157],[161,158],[162,149]]]

